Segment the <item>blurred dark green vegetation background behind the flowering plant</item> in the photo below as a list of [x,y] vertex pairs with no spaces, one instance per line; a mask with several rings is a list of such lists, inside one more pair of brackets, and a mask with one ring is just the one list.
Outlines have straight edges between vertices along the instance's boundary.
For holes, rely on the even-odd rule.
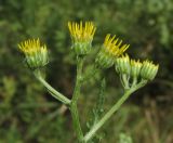
[[[172,0],[1,0],[0,1],[0,143],[75,143],[71,117],[24,65],[17,43],[40,38],[51,54],[46,80],[71,98],[76,78],[68,21],[93,21],[93,49],[106,34],[131,47],[134,58],[160,64],[156,79],[134,93],[104,126],[102,143],[125,133],[134,143],[173,143],[173,1]],[[90,70],[89,56],[85,70]],[[121,96],[115,68],[106,70],[105,110]],[[89,80],[79,102],[84,131],[97,101],[99,82]]]

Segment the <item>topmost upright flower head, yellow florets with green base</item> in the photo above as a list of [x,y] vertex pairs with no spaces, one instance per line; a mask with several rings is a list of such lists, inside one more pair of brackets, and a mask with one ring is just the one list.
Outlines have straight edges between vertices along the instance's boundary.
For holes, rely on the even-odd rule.
[[72,46],[77,55],[85,55],[91,51],[92,40],[96,30],[96,27],[92,22],[85,22],[84,26],[82,22],[80,24],[68,22],[68,28],[70,31]]

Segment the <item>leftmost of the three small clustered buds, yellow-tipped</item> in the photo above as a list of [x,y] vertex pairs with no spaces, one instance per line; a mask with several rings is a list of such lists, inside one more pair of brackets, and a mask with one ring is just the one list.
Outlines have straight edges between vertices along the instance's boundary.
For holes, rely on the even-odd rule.
[[130,75],[131,65],[130,65],[130,58],[128,54],[122,55],[122,57],[118,57],[116,60],[116,70],[119,74]]

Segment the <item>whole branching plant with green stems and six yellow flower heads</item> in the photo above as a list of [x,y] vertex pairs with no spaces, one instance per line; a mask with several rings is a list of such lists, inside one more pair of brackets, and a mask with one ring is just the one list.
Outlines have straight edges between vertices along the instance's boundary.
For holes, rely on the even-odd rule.
[[[85,55],[90,54],[94,49],[92,47],[92,41],[96,26],[93,22],[68,22],[68,29],[71,37],[71,50],[76,53],[77,60],[77,78],[72,99],[68,99],[66,95],[59,93],[57,90],[51,87],[51,84],[49,84],[42,77],[42,74],[40,74],[42,72],[41,68],[49,63],[48,49],[45,44],[41,44],[39,39],[29,39],[21,42],[18,48],[24,53],[25,62],[27,63],[29,69],[34,73],[35,77],[48,89],[53,98],[67,105],[69,108],[78,142],[88,143],[89,141],[92,141],[97,130],[114,115],[115,112],[120,108],[120,106],[133,92],[141,89],[156,77],[159,65],[156,65],[148,60],[141,62],[139,60],[130,58],[130,56],[125,53],[130,44],[122,43],[122,40],[108,34],[106,35],[104,43],[99,47],[99,50],[95,55],[95,60],[92,63],[93,69],[86,75],[82,69],[84,60],[88,57]],[[82,83],[92,78],[96,72],[101,73],[102,70],[111,66],[115,66],[115,69],[120,77],[120,81],[124,91],[123,95],[105,115],[98,116],[94,114],[93,116],[97,117],[97,121],[94,122],[94,126],[92,126],[84,134],[80,126],[77,108],[77,103],[79,101],[79,96],[81,95],[80,89]],[[106,75],[101,75],[103,77],[101,79],[102,86],[99,90],[104,91],[104,76]],[[103,96],[101,96],[101,99],[102,98]]]

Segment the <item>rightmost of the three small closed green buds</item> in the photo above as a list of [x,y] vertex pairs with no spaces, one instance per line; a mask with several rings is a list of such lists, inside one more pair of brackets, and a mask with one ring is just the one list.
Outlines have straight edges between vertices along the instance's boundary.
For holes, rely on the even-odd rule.
[[141,69],[141,77],[146,80],[152,80],[158,73],[159,65],[152,64],[152,62],[144,61]]

